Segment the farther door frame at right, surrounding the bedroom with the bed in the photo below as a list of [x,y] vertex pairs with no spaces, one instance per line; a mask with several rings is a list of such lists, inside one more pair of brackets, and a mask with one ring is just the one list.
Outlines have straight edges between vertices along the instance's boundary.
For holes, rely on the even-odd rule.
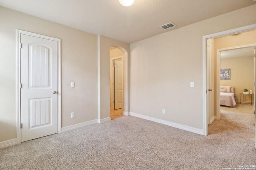
[[[220,78],[218,75],[220,74],[220,52],[233,50],[233,49],[241,49],[246,47],[255,47],[256,44],[248,44],[248,45],[240,45],[234,47],[228,47],[223,49],[216,49],[216,119],[220,120]],[[254,92],[255,93],[255,92]]]

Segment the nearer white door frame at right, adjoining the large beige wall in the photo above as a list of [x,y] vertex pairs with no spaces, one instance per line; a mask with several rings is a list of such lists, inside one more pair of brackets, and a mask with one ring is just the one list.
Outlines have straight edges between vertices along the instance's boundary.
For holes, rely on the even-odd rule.
[[210,35],[205,35],[203,36],[203,135],[208,134],[208,125],[207,125],[207,63],[206,63],[206,50],[207,50],[207,39],[211,38],[217,38],[217,37],[222,37],[225,35],[230,35],[230,34],[235,34],[235,33],[240,33],[244,31],[250,31],[252,29],[256,29],[256,24],[252,25],[247,25],[244,27],[239,27],[235,29],[230,29],[227,31],[222,31],[219,33],[214,33]]

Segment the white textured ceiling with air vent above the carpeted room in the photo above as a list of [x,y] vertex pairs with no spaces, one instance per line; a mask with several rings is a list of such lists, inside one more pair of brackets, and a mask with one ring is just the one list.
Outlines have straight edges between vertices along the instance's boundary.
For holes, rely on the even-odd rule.
[[[253,0],[135,0],[124,7],[118,0],[0,0],[0,6],[125,43],[254,4]],[[169,22],[177,26],[159,27]]]

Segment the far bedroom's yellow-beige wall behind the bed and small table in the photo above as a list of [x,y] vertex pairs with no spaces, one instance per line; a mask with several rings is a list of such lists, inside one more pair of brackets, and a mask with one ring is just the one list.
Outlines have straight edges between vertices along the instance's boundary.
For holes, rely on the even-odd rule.
[[[221,86],[234,86],[234,92],[240,100],[240,93],[247,89],[253,92],[253,55],[252,57],[239,57],[220,60],[220,68],[230,68],[230,80],[220,80]],[[254,92],[253,92],[254,93]],[[251,101],[250,95],[244,100]]]

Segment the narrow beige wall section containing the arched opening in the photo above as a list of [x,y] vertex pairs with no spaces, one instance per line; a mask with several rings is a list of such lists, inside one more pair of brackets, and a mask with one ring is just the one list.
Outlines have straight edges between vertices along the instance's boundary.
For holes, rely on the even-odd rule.
[[122,51],[123,57],[123,79],[124,79],[124,111],[129,112],[129,70],[128,56],[130,45],[120,41],[99,36],[99,53],[100,53],[100,119],[110,117],[110,47],[116,47]]

